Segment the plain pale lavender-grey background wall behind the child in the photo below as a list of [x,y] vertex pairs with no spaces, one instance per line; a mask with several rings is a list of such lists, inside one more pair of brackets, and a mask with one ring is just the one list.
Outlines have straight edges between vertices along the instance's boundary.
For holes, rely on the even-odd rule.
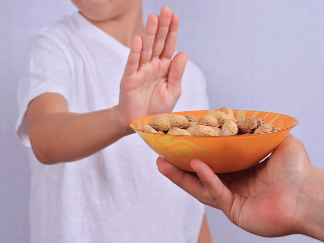
[[[324,170],[324,1],[145,0],[145,18],[163,5],[180,15],[177,49],[203,70],[211,108],[298,118],[292,134]],[[32,33],[75,10],[69,0],[1,0],[0,243],[29,242],[30,172],[14,134],[22,52]],[[305,236],[260,238],[209,207],[207,217],[214,243],[316,242]]]

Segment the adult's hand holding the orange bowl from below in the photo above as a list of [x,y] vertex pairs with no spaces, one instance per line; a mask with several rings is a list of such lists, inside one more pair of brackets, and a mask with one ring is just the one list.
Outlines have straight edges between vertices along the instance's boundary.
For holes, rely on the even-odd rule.
[[192,160],[194,176],[162,158],[159,171],[201,203],[221,209],[238,227],[263,237],[304,234],[324,240],[324,172],[311,165],[301,141],[288,135],[269,158],[215,175]]

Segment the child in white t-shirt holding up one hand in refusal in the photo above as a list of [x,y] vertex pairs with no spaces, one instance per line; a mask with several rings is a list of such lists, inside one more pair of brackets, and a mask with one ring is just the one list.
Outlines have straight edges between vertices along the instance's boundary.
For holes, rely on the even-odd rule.
[[72,1],[29,41],[19,81],[31,243],[210,242],[203,205],[130,135],[134,119],[208,108],[200,70],[172,58],[178,16],[163,7],[144,28],[141,0]]

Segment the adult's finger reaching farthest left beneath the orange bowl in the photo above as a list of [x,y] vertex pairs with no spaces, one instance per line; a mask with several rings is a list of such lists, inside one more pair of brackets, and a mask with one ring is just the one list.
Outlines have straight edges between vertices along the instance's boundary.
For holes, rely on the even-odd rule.
[[175,185],[189,193],[201,203],[217,208],[217,205],[210,197],[199,178],[176,168],[161,157],[157,159],[157,165],[161,174],[167,177]]

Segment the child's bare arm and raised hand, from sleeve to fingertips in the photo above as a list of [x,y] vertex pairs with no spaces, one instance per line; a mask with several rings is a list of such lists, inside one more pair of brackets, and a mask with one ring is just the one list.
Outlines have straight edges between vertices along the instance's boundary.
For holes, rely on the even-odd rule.
[[181,93],[187,54],[173,59],[179,18],[163,7],[151,14],[145,34],[134,36],[121,80],[119,104],[111,109],[76,114],[63,96],[45,93],[33,99],[26,120],[32,149],[45,164],[90,156],[133,133],[131,121],[171,112]]

